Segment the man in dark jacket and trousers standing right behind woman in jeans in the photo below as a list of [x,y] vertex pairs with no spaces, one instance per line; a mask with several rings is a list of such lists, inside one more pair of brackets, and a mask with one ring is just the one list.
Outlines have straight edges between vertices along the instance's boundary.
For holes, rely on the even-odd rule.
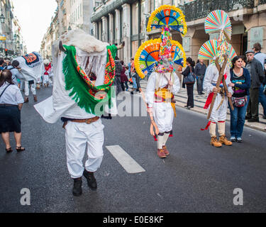
[[245,116],[248,122],[259,122],[259,89],[265,77],[263,67],[260,61],[255,59],[254,54],[253,50],[245,52],[248,59],[245,68],[250,72],[251,78],[250,101],[248,102],[247,115]]

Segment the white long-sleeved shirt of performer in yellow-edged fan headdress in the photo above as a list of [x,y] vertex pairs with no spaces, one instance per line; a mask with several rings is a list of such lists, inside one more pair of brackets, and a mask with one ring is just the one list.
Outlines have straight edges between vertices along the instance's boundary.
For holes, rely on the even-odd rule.
[[[170,75],[171,75],[170,72],[165,73],[165,74],[166,74],[167,78],[170,79]],[[179,92],[179,89],[180,89],[180,82],[179,82],[179,78],[177,77],[177,74],[175,72],[173,72],[173,76],[174,76],[174,82],[173,82],[173,86],[172,86],[172,93],[177,94]],[[158,85],[159,88],[163,88],[163,87],[167,86],[168,81],[164,77],[163,74],[160,74],[157,72],[153,72],[152,74],[150,74],[148,84],[146,87],[146,95],[145,95],[146,96],[145,101],[149,107],[153,107],[156,84]]]

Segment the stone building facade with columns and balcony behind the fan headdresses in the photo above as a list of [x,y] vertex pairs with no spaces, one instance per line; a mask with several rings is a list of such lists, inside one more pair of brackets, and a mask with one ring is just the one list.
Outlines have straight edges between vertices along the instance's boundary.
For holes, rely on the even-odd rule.
[[187,56],[194,60],[203,43],[218,37],[204,31],[206,16],[216,9],[226,11],[231,18],[230,43],[238,55],[243,55],[256,42],[266,52],[266,0],[94,0],[94,35],[111,44],[125,41],[126,47],[118,52],[118,57],[128,62],[141,43],[160,37],[160,29],[147,33],[146,26],[150,14],[164,4],[177,6],[184,12],[187,34],[182,37],[172,33],[172,38],[182,43]]

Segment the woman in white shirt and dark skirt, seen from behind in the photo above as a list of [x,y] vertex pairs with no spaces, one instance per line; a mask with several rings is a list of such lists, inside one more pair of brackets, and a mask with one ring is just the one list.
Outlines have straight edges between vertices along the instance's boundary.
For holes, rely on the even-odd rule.
[[14,132],[16,150],[21,152],[21,108],[23,105],[21,90],[12,82],[12,73],[3,70],[0,74],[0,133],[6,144],[6,153],[13,150],[9,133]]

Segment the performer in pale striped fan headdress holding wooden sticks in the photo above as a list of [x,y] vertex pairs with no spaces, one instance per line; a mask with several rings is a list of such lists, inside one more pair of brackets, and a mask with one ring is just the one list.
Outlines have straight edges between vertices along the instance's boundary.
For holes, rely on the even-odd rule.
[[[232,145],[226,138],[226,115],[228,101],[231,101],[233,89],[231,83],[231,60],[236,55],[232,46],[226,39],[231,39],[231,22],[226,12],[216,10],[209,13],[205,21],[206,33],[220,32],[218,40],[209,40],[199,50],[199,59],[211,60],[204,77],[204,91],[208,94],[204,109],[209,109],[209,128],[211,145],[220,148],[222,144]],[[219,140],[216,137],[216,125],[218,126]]]

